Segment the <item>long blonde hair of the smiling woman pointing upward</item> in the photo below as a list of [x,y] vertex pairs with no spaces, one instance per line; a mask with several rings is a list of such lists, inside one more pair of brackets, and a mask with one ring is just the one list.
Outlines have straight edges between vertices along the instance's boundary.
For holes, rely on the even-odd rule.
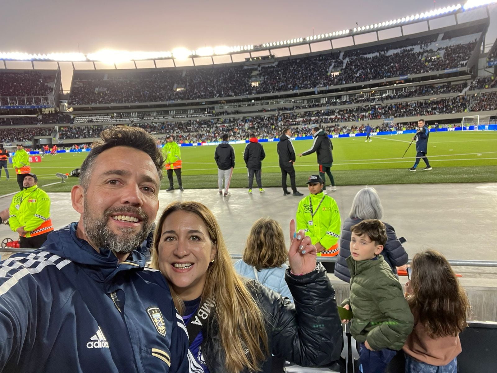
[[[226,369],[231,373],[239,373],[245,368],[250,372],[259,371],[260,364],[269,355],[262,311],[244,281],[235,272],[221,228],[207,206],[187,201],[172,202],[166,207],[154,234],[152,267],[159,269],[159,243],[164,221],[174,211],[186,211],[199,216],[207,227],[211,241],[217,245],[217,254],[207,270],[200,302],[208,298],[214,299],[214,315],[226,354]],[[183,313],[183,301],[172,288],[171,293],[176,308]]]

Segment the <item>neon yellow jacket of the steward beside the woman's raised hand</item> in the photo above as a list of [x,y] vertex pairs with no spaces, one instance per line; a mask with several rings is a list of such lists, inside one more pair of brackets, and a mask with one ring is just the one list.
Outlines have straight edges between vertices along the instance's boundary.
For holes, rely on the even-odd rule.
[[[324,197],[324,199],[323,199]],[[311,216],[311,198],[314,217]],[[319,202],[321,205],[318,208]],[[318,256],[334,257],[338,254],[338,239],[340,238],[340,212],[336,201],[323,192],[311,194],[304,197],[299,202],[297,208],[297,231],[304,229],[306,236],[309,236],[313,245],[318,242],[323,245],[326,251],[318,253]]]

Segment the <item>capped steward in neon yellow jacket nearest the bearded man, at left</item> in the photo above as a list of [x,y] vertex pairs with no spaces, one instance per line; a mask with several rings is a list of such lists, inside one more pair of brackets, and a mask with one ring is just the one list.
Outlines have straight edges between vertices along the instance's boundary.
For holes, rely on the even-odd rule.
[[14,195],[10,204],[8,225],[19,234],[21,248],[39,249],[54,230],[50,198],[37,184],[36,175],[26,174],[23,190]]

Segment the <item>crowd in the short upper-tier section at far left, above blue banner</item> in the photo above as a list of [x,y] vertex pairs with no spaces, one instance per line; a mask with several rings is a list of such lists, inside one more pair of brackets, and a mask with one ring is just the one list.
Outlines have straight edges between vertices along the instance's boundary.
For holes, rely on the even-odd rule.
[[0,72],[0,96],[46,96],[54,88],[48,85],[53,77],[38,71]]

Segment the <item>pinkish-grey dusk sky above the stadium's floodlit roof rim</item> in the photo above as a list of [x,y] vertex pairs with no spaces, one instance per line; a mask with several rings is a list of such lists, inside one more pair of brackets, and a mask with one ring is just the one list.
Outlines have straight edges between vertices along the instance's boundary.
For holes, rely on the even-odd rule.
[[[3,0],[1,52],[99,49],[171,51],[175,47],[262,44],[402,18],[433,0]],[[462,1],[461,3],[464,3]],[[457,4],[436,0],[437,8]],[[497,18],[497,6],[492,16]],[[496,20],[486,43],[495,40]]]

